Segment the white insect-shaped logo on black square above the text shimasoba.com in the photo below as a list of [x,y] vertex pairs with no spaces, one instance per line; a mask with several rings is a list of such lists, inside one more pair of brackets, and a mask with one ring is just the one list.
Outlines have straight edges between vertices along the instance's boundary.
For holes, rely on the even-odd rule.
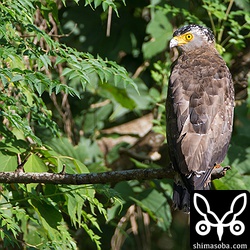
[[[243,206],[239,209],[239,211],[235,211],[237,210],[235,204],[239,203],[241,199],[243,199]],[[200,202],[203,202],[203,204],[205,204],[206,211],[202,211],[202,209],[199,208],[198,206],[199,200]],[[246,208],[246,205],[247,205],[246,193],[239,194],[233,199],[231,206],[230,206],[230,210],[226,212],[222,216],[221,219],[218,218],[218,216],[213,211],[211,211],[210,205],[207,199],[203,195],[199,193],[195,193],[193,202],[194,202],[194,207],[196,211],[203,217],[203,219],[197,222],[195,226],[195,230],[199,235],[205,236],[209,234],[211,227],[217,228],[217,235],[218,235],[219,241],[221,241],[222,239],[225,227],[229,227],[230,232],[236,236],[244,233],[245,225],[243,224],[242,221],[237,220],[237,216],[239,216]],[[203,210],[204,210],[204,207],[203,207]],[[226,219],[228,220],[228,218],[230,217],[232,217],[231,221],[226,223],[225,220]],[[213,222],[211,222],[211,219]]]

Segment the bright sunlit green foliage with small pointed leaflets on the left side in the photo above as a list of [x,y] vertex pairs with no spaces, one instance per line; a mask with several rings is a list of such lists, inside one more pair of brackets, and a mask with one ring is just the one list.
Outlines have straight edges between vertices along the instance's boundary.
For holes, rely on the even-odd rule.
[[[102,5],[104,9],[107,5],[115,8],[112,1],[104,1]],[[36,130],[39,128],[52,135],[60,134],[58,125],[52,120],[52,112],[42,98],[44,92],[79,98],[78,89],[65,84],[67,79],[78,81],[81,91],[90,84],[91,78],[98,78],[103,83],[114,82],[114,86],[131,84],[137,87],[117,63],[60,44],[37,27],[34,23],[37,8],[46,22],[50,21],[50,14],[58,22],[57,6],[53,1],[1,4],[1,171],[14,171],[18,162],[25,162],[27,172],[58,172],[65,164],[68,173],[88,173],[80,162],[80,152],[69,147],[65,154],[59,154],[46,146],[44,138],[39,136]],[[106,95],[110,93],[116,98],[119,91],[126,95],[125,90],[102,86],[103,89],[106,86]],[[132,108],[123,100],[120,102]],[[60,150],[62,152],[62,148]],[[96,213],[105,218],[106,210],[95,196],[93,186],[2,186],[2,246],[14,247],[14,244],[24,242],[26,246],[36,248],[75,249],[76,242],[68,227],[82,227],[100,249],[100,237],[93,229],[101,231]],[[19,236],[20,232],[22,236]]]

